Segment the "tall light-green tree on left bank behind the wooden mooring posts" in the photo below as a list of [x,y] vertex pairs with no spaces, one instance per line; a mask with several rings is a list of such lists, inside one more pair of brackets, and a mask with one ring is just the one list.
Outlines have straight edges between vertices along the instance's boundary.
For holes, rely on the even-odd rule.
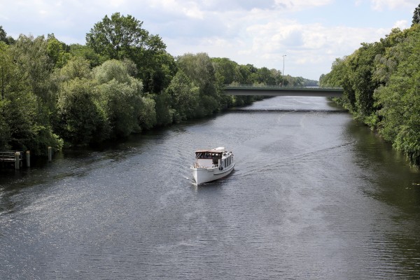
[[10,127],[10,147],[46,155],[47,146],[61,148],[62,141],[52,132],[52,64],[46,52],[45,38],[21,35],[10,45],[13,82],[8,83],[3,116]]

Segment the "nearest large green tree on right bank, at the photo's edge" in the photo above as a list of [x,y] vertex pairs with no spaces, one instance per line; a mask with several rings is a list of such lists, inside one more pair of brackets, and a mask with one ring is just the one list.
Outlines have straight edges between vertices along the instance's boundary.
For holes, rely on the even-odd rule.
[[396,66],[386,85],[374,95],[380,108],[379,132],[417,166],[420,165],[420,59],[416,55],[419,52],[420,26],[414,25],[405,40],[388,50]]

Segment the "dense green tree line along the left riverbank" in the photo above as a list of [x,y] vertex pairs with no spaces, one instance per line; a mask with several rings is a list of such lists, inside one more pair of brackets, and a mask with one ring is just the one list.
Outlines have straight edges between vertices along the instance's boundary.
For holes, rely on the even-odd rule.
[[[0,151],[96,146],[262,99],[225,95],[225,85],[281,84],[276,69],[206,53],[173,57],[142,24],[106,15],[85,45],[54,34],[15,39],[0,27]],[[284,76],[284,85],[317,83]]]

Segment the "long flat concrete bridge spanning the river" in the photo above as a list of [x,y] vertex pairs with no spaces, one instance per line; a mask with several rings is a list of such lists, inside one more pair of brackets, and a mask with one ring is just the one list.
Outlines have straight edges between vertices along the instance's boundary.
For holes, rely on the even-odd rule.
[[342,97],[342,87],[281,87],[279,85],[227,85],[228,95]]

